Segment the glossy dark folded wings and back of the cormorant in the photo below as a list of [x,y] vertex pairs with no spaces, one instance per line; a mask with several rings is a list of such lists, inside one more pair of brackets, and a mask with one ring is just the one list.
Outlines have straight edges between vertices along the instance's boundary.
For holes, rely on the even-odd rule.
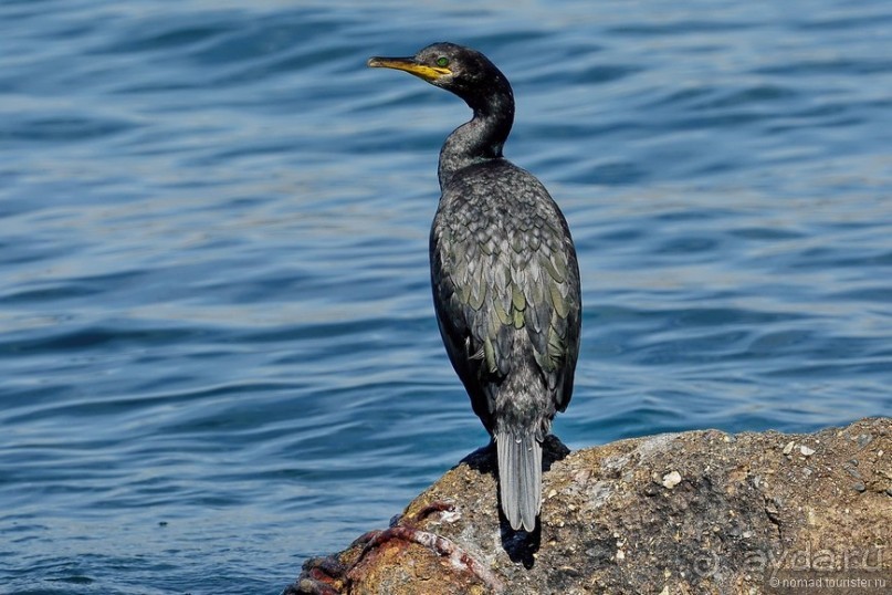
[[483,405],[492,413],[486,388],[511,372],[522,330],[555,408],[564,410],[573,392],[580,322],[576,253],[559,210],[532,180],[502,201],[493,195],[473,200],[470,189],[458,188],[463,199],[449,208],[444,195],[447,208],[431,231],[440,330],[472,401],[481,401],[474,404],[481,418]]

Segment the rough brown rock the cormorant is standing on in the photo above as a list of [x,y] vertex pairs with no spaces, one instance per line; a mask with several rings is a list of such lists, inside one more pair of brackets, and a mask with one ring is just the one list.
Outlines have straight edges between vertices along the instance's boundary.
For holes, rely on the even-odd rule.
[[[820,448],[800,449],[804,467],[786,446],[806,442]],[[560,447],[549,437],[534,533],[501,516],[494,457],[481,449],[391,528],[307,561],[285,594],[759,594],[778,592],[778,576],[843,564],[849,576],[892,578],[889,418],[815,435],[709,430]]]

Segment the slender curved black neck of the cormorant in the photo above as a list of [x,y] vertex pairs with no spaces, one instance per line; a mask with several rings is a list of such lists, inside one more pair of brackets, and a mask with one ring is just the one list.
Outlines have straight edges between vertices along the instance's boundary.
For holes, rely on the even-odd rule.
[[440,150],[438,173],[441,190],[455,171],[502,157],[502,146],[514,124],[514,94],[503,76],[487,91],[485,94],[463,97],[473,109],[474,117],[455,128]]

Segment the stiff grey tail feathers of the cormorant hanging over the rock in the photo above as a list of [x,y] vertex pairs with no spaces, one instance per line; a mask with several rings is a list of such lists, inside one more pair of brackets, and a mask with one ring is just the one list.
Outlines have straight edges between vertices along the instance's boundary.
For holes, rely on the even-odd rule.
[[495,447],[502,511],[515,531],[533,531],[542,508],[542,445],[535,432],[500,431]]

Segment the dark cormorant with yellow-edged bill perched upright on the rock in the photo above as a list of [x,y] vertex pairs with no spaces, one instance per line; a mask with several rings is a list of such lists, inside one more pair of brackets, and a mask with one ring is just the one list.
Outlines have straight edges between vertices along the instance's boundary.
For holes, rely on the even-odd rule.
[[413,74],[472,111],[440,150],[433,305],[449,359],[495,442],[504,518],[512,530],[533,532],[543,440],[570,401],[579,354],[579,264],[569,227],[545,186],[503,156],[514,92],[485,55],[441,42],[408,58],[375,56],[368,66]]

